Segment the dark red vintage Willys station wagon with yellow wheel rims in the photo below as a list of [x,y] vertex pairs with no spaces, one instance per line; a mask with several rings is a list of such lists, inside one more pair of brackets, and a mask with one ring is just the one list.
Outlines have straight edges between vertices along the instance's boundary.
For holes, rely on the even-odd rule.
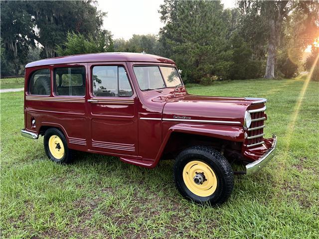
[[76,150],[148,168],[174,158],[177,189],[197,203],[225,202],[234,173],[257,172],[276,150],[276,136],[264,138],[266,99],[190,95],[174,61],[160,56],[44,59],[25,66],[24,89],[21,133],[44,136],[52,161],[70,163]]

